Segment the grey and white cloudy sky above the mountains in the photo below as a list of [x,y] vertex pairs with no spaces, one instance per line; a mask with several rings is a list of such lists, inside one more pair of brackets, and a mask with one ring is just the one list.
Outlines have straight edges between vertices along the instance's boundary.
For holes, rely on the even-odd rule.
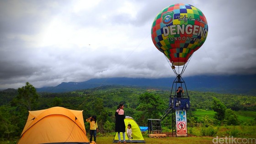
[[[92,78],[174,77],[151,40],[166,6],[187,0],[0,0],[0,89]],[[208,37],[185,76],[256,74],[256,1],[189,0]]]

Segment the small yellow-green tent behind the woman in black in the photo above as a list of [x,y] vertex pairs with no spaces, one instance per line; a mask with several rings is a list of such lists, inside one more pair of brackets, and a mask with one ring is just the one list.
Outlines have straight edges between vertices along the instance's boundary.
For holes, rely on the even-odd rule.
[[[139,125],[138,125],[138,123],[136,123],[134,121],[133,117],[126,116],[124,119],[124,123],[125,123],[125,129],[127,129],[127,126],[130,123],[132,125],[132,132],[133,132],[133,134],[132,134],[133,139],[128,139],[128,136],[125,133],[126,134],[126,136],[125,136],[126,142],[128,142],[128,143],[146,143],[142,136],[142,133],[140,131]],[[121,141],[123,142],[123,133],[120,133],[120,136],[121,136]],[[117,142],[118,142],[118,136],[116,133],[113,143],[117,143]]]

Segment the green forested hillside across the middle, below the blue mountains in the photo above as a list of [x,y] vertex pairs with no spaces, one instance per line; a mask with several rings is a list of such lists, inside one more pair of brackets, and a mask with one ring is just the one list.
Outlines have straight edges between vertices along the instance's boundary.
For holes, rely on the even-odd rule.
[[[149,92],[159,95],[168,105],[170,91],[159,89],[147,89],[134,86],[101,86],[92,89],[78,90],[64,93],[48,93],[40,92],[37,109],[43,109],[45,107],[53,107],[53,99],[58,97],[62,102],[62,107],[77,108],[86,100],[88,103],[88,96],[96,96],[103,100],[104,107],[112,108],[116,107],[120,102],[129,105],[129,107],[136,108],[139,105],[139,95]],[[8,104],[18,94],[15,89],[8,89],[0,91],[0,105]],[[220,94],[214,92],[199,92],[188,91],[192,109],[210,109],[213,97],[217,97],[228,108],[232,110],[249,110],[256,111],[256,96],[248,95],[235,95],[235,94]]]

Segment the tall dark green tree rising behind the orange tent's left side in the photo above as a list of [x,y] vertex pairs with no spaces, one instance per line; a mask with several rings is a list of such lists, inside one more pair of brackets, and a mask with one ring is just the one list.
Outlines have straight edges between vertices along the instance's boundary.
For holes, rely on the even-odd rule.
[[32,107],[36,105],[36,100],[38,99],[36,88],[29,82],[26,82],[25,86],[18,88],[17,99],[21,105],[31,111]]

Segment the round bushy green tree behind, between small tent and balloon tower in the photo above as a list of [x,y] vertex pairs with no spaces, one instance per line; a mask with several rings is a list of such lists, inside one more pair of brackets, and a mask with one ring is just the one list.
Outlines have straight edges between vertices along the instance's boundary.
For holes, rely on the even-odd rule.
[[143,111],[141,118],[144,124],[147,123],[148,118],[159,118],[164,109],[165,102],[160,96],[148,92],[139,96],[139,106],[137,110]]

